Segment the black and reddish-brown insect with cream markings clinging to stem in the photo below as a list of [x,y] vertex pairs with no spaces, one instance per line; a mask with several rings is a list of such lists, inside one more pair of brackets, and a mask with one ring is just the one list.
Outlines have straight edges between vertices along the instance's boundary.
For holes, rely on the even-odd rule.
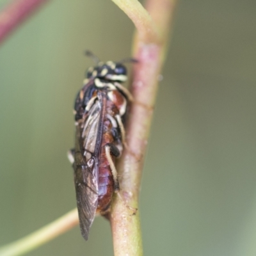
[[127,79],[122,61],[103,63],[91,52],[86,55],[97,65],[88,68],[76,97],[76,143],[69,158],[74,168],[81,234],[88,240],[95,214],[106,214],[113,193],[119,190],[115,159],[125,145],[124,124],[132,96],[121,84]]

